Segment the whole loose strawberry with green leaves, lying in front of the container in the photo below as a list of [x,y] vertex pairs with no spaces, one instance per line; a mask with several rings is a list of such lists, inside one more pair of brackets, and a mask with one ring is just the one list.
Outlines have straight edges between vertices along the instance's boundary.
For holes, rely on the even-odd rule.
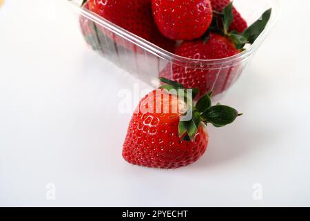
[[[204,95],[194,105],[197,89],[185,90],[174,81],[161,81],[166,84],[146,95],[136,108],[123,145],[123,157],[131,164],[176,169],[196,162],[205,153],[207,124],[225,126],[240,114],[229,106],[211,106],[210,95]],[[192,117],[181,120],[188,113]]]

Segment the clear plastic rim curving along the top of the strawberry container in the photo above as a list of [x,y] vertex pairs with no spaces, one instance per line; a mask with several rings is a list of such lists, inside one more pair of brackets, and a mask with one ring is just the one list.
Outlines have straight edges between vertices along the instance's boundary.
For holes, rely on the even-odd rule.
[[116,26],[111,21],[108,21],[107,19],[104,19],[103,17],[96,15],[94,12],[91,12],[90,10],[87,10],[85,8],[81,8],[81,5],[77,2],[77,0],[68,0],[68,1],[70,1],[71,5],[75,8],[75,10],[78,10],[78,12],[84,17],[87,17],[87,19],[91,19],[95,23],[99,24],[100,26],[103,26],[104,28],[107,28],[108,30],[116,33],[117,35],[121,35],[128,41],[131,41],[133,44],[136,44],[136,46],[139,46],[147,50],[148,52],[156,56],[159,56],[163,59],[166,59],[168,61],[175,61],[180,64],[183,63],[186,64],[187,66],[190,64],[193,64],[194,66],[197,65],[231,66],[240,61],[245,61],[249,59],[249,57],[251,57],[257,50],[257,48],[260,46],[260,44],[262,44],[262,41],[265,39],[268,32],[271,30],[272,26],[274,26],[274,24],[276,23],[280,10],[279,0],[266,0],[269,1],[270,4],[272,5],[271,19],[269,20],[265,30],[263,30],[260,36],[256,39],[256,41],[254,41],[254,44],[251,44],[251,46],[249,46],[242,52],[238,53],[237,55],[231,57],[225,57],[222,59],[192,59],[188,57],[175,55],[172,52],[168,52],[167,50],[164,50],[163,48],[160,48],[159,46],[156,46],[155,44],[152,44],[151,42],[141,37],[138,37],[137,35],[134,35],[132,32],[129,32],[124,28]]

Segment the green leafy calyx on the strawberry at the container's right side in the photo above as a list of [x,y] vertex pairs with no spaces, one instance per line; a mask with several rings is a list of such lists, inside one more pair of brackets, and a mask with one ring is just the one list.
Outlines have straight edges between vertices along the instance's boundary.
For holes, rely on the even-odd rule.
[[[262,31],[267,26],[267,23],[271,17],[271,8],[266,10],[260,19],[255,21],[251,26],[249,26],[244,32],[239,33],[236,30],[232,30],[229,32],[229,27],[231,22],[234,20],[234,15],[232,12],[233,3],[229,3],[223,9],[223,12],[214,12],[214,20],[211,23],[209,30],[218,32],[221,35],[225,35],[234,41],[234,44],[237,49],[242,49],[246,44],[253,44],[254,41],[258,38],[258,36],[262,33]],[[222,25],[218,24],[218,17],[221,18]]]

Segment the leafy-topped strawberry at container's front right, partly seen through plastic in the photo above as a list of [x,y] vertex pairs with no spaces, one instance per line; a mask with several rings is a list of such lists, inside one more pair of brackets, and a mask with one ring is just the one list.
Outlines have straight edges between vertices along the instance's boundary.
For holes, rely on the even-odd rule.
[[[218,21],[210,26],[205,36],[194,41],[183,41],[176,49],[175,54],[191,59],[223,59],[242,52],[245,44],[253,44],[260,33],[265,29],[271,16],[271,9],[264,12],[262,19],[258,19],[244,32],[229,31],[232,15],[232,4],[230,3],[223,10],[221,26]],[[222,27],[223,26],[223,27]],[[165,77],[183,84],[185,88],[199,88],[200,95],[214,91],[214,95],[223,93],[231,84],[236,81],[242,71],[238,61],[226,64],[201,65],[199,68],[189,68],[178,63],[168,64],[160,77]]]

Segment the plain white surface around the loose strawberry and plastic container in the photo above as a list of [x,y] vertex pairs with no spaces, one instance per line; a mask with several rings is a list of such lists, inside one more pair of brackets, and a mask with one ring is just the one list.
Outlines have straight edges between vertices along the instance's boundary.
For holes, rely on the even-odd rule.
[[[278,24],[222,101],[244,115],[209,127],[196,164],[164,171],[121,157],[131,116],[118,113],[118,91],[138,81],[85,46],[67,3],[6,0],[0,206],[310,206],[309,12],[308,0],[282,1]],[[55,200],[45,198],[48,183]]]

